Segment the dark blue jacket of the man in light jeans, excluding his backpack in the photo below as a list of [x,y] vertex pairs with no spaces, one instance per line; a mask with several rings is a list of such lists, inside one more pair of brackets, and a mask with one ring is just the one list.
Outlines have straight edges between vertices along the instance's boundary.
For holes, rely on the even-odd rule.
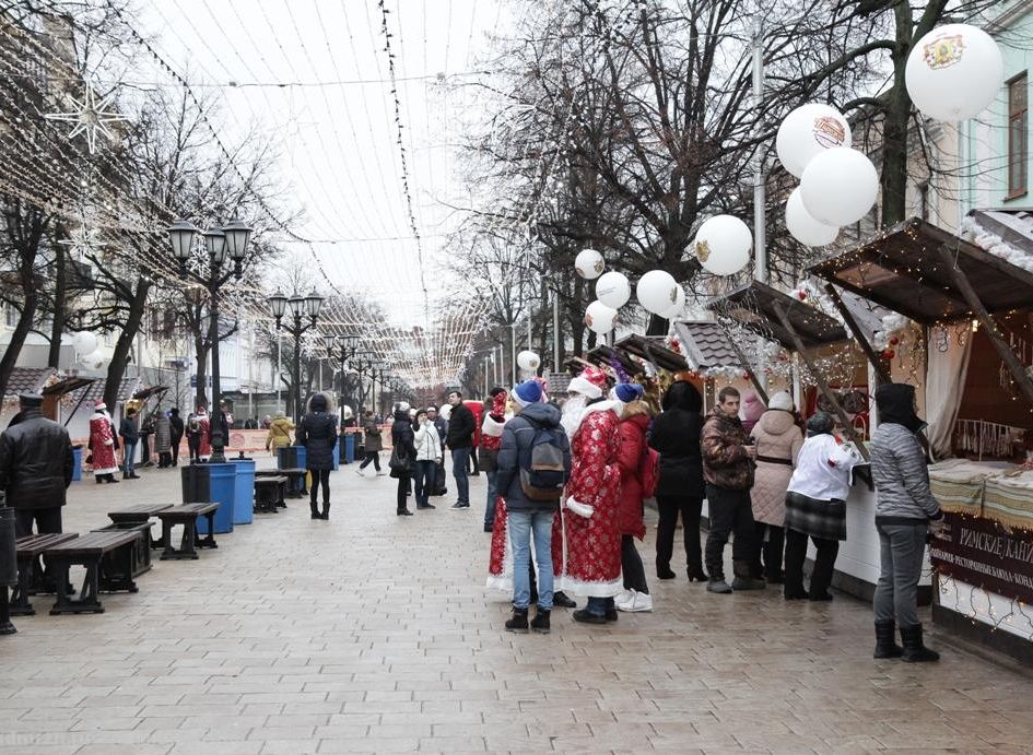
[[506,509],[510,511],[556,509],[556,502],[531,500],[524,495],[524,488],[520,487],[520,469],[528,468],[531,463],[531,447],[537,433],[535,425],[560,433],[563,469],[567,477],[571,475],[571,445],[566,433],[560,427],[560,410],[541,402],[528,404],[503,427],[502,447],[496,459],[496,489],[506,502]]

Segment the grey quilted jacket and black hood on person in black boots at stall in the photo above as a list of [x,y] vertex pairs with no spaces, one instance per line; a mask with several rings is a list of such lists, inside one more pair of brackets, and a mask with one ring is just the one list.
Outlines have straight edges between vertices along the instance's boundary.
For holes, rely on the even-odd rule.
[[871,476],[876,483],[876,524],[915,524],[943,512],[929,489],[926,455],[916,433],[915,388],[901,382],[876,390],[879,427],[871,435]]

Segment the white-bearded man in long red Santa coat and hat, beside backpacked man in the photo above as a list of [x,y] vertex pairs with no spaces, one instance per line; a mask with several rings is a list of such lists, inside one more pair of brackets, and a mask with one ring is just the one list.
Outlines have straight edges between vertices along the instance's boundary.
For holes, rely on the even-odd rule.
[[621,582],[620,487],[618,430],[624,405],[603,397],[606,375],[597,367],[571,380],[563,408],[563,427],[571,438],[573,464],[566,485],[563,529],[566,567],[563,589],[588,595],[588,606],[574,620],[606,624],[617,620],[613,597]]

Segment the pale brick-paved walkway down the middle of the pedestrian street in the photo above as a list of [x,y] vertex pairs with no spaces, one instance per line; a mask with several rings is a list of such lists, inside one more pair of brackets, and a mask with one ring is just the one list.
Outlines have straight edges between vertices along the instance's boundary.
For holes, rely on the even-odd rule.
[[[271,465],[262,460],[262,465]],[[0,750],[28,753],[1029,752],[1033,681],[944,649],[872,661],[868,606],[652,581],[654,614],[503,630],[482,509],[394,515],[394,481],[305,503],[156,563],[103,615],[0,637]],[[73,486],[66,529],[175,502],[176,471]],[[451,485],[450,485],[451,487]],[[483,477],[473,481],[482,500]],[[436,499],[443,502],[444,499]],[[654,528],[643,547],[652,563]],[[932,638],[936,645],[936,638]],[[942,647],[942,646],[940,646]]]

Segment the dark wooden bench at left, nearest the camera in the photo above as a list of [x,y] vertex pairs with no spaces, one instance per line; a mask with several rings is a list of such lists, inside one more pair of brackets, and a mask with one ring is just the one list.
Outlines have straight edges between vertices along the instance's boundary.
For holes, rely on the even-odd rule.
[[[43,557],[50,562],[57,576],[57,602],[50,609],[50,615],[104,613],[104,606],[97,598],[102,588],[105,592],[119,590],[137,592],[137,583],[132,580],[131,574],[133,548],[139,540],[140,533],[130,530],[87,532],[74,540],[51,545],[44,551]],[[105,575],[102,580],[101,562],[107,554],[120,559],[120,563],[115,574]],[[78,599],[69,597],[67,589],[69,569],[73,564],[86,569]]]

